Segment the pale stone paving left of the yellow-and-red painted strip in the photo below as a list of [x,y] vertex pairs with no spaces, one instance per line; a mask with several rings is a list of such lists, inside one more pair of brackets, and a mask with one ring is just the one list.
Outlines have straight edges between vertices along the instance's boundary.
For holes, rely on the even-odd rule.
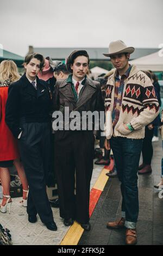
[[[91,188],[102,168],[102,166],[94,166]],[[58,230],[50,231],[42,224],[39,217],[34,224],[28,222],[26,208],[20,204],[21,199],[12,199],[11,214],[0,212],[0,223],[11,231],[13,245],[59,245],[69,229],[63,224],[63,220],[59,216],[59,209],[52,208]]]

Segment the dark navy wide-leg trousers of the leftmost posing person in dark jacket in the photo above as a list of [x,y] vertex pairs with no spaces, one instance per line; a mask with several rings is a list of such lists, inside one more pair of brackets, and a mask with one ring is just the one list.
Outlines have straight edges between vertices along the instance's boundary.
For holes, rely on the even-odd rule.
[[22,128],[18,145],[29,185],[27,213],[33,216],[39,214],[43,223],[52,222],[53,213],[46,192],[49,175],[49,124],[23,123]]

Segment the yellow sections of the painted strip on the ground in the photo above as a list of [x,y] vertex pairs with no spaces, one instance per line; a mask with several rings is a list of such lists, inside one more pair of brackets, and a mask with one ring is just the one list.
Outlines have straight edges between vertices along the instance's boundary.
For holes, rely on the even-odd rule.
[[[98,176],[98,179],[95,185],[92,188],[103,191],[106,185],[106,182],[109,179],[109,177],[106,176],[106,173],[108,172],[109,172],[109,169],[103,168],[101,173]],[[74,221],[73,225],[68,229],[60,245],[78,245],[78,242],[83,232],[84,232],[84,229],[80,226],[80,224]]]

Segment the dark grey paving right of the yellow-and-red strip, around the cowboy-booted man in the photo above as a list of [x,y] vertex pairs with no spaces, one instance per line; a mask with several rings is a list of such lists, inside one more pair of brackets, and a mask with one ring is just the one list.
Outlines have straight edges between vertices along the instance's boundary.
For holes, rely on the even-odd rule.
[[[163,245],[163,199],[153,185],[160,181],[162,144],[153,143],[152,174],[139,175],[139,220],[137,245]],[[120,182],[110,178],[91,216],[91,231],[84,232],[79,245],[124,245],[125,230],[109,230],[106,222],[121,216]]]

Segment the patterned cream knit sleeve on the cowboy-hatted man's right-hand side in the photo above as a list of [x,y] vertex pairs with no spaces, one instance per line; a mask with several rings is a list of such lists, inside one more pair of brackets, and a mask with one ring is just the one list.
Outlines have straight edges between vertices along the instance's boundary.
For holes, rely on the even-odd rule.
[[142,112],[130,121],[134,130],[139,130],[142,126],[150,124],[159,114],[159,102],[151,79],[147,76],[145,76],[145,81],[142,83],[141,100],[143,104]]

